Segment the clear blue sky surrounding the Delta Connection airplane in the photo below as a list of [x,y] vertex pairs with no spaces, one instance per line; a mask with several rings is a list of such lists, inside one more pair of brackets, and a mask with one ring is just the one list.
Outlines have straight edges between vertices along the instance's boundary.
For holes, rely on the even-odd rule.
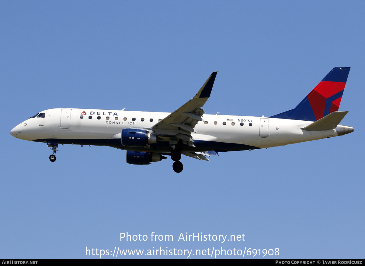
[[[364,258],[364,11],[362,1],[1,1],[0,257],[161,246]],[[51,163],[46,144],[9,134],[50,108],[172,112],[213,71],[208,114],[270,116],[335,66],[351,67],[339,110],[353,133],[184,157],[181,174],[170,159],[134,166],[110,147],[65,145]],[[122,232],[174,240],[126,242]]]

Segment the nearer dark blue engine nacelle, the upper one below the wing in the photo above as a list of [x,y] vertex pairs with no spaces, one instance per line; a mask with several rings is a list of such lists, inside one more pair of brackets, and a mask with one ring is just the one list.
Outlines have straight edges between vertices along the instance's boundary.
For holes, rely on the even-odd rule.
[[122,130],[123,146],[146,146],[157,142],[157,136],[146,130],[126,128]]

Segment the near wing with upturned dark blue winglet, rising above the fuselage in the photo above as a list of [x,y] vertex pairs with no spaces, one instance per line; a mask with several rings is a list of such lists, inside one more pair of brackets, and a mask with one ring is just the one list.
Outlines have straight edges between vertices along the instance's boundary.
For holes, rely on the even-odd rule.
[[178,130],[178,133],[174,135],[183,141],[187,141],[189,145],[192,145],[191,132],[195,132],[194,127],[197,122],[204,121],[201,118],[204,114],[204,110],[201,107],[203,107],[210,96],[217,72],[213,72],[208,77],[194,98],[162,119],[151,129],[155,131],[174,130],[175,132]]

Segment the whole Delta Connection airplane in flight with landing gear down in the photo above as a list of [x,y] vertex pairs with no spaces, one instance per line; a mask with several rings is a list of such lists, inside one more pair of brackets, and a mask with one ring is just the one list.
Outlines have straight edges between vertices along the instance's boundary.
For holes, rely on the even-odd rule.
[[197,94],[172,113],[57,108],[44,110],[13,128],[22,140],[47,143],[56,160],[58,144],[99,145],[126,150],[129,164],[150,164],[170,156],[177,173],[181,155],[209,161],[227,151],[245,151],[342,136],[353,127],[339,125],[338,111],[349,67],[335,67],[294,108],[270,117],[204,114],[218,71]]

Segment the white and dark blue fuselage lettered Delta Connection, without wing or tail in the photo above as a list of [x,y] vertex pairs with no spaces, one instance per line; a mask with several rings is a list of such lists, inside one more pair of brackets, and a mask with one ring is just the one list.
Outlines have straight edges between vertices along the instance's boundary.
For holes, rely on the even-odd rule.
[[[152,128],[170,113],[75,108],[49,109],[41,113],[45,113],[44,117],[29,118],[16,126],[11,131],[12,136],[39,142],[53,140],[59,144],[106,145],[131,151],[170,151],[168,135],[162,131],[151,131],[162,140],[150,147],[125,147],[120,142],[123,129]],[[335,129],[301,130],[311,121],[211,114],[204,114],[202,118],[205,122],[199,121],[194,128],[196,132],[191,133],[195,147],[187,147],[186,151],[238,151],[338,136]]]

